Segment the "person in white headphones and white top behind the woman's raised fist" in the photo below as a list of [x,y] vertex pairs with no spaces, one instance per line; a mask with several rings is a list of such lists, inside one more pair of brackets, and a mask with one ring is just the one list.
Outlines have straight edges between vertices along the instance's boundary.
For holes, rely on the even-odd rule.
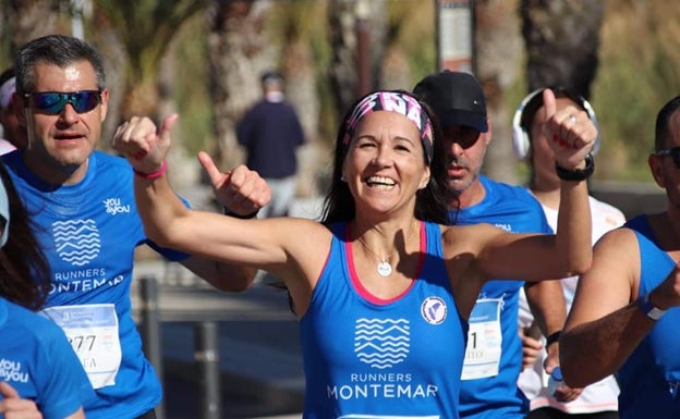
[[[543,88],[529,94],[520,103],[512,124],[513,149],[520,160],[526,161],[530,167],[530,190],[541,201],[548,222],[557,229],[557,209],[560,202],[560,180],[555,173],[555,156],[548,146],[548,140],[542,127],[546,119],[543,103]],[[568,106],[580,108],[595,124],[597,118],[591,104],[582,96],[564,88],[551,88],[557,98],[557,109]],[[599,136],[596,139],[593,153],[599,148]],[[606,232],[621,226],[626,217],[618,209],[608,204],[590,197],[591,215],[593,218],[593,244]],[[567,308],[571,307],[576,289],[578,276],[561,280]],[[530,330],[535,321],[526,299],[520,304],[520,331]],[[559,347],[557,341],[559,331],[549,336],[549,341],[524,337],[525,352],[534,350],[536,359],[520,374],[520,387],[531,402],[531,412],[527,419],[555,418],[587,418],[587,419],[617,419],[619,386],[611,375],[585,389],[570,389],[567,385],[557,386],[556,393],[550,394],[548,385],[549,373],[558,367],[559,359],[546,362],[544,348],[546,345]]]

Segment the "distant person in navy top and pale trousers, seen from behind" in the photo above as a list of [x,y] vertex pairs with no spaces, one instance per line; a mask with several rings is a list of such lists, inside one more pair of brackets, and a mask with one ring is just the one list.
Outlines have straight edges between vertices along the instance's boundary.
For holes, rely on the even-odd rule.
[[246,150],[245,165],[271,188],[271,200],[257,217],[283,217],[289,214],[295,198],[295,151],[305,137],[295,109],[283,95],[281,74],[265,72],[260,82],[264,97],[239,121],[236,137]]

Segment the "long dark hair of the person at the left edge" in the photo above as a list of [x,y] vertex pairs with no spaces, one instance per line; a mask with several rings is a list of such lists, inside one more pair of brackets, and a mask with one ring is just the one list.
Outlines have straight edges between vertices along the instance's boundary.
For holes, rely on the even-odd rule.
[[28,211],[2,163],[0,180],[10,205],[8,242],[0,248],[0,296],[31,310],[39,310],[49,293],[50,267],[36,238]]

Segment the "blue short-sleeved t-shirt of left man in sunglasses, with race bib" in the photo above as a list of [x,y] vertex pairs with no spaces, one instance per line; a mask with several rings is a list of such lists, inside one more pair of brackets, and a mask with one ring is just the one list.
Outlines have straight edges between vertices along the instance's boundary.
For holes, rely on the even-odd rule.
[[134,249],[147,241],[130,164],[95,151],[82,182],[54,186],[28,170],[22,151],[2,159],[52,270],[42,312],[66,332],[96,390],[85,415],[124,419],[153,409],[161,385],[142,350],[130,296]]

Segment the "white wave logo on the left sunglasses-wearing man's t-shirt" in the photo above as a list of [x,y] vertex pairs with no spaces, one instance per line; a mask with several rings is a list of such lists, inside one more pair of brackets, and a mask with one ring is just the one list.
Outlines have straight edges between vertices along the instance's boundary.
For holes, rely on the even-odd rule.
[[95,220],[69,220],[52,223],[54,246],[59,257],[75,266],[89,263],[99,255],[99,229]]

